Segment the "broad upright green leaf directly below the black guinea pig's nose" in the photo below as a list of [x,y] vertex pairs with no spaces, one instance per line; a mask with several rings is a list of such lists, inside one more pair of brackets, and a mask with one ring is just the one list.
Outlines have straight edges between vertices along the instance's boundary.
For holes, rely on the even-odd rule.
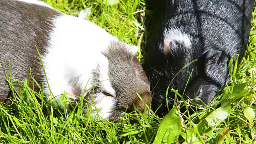
[[174,143],[178,135],[181,134],[180,116],[176,107],[164,117],[158,128],[154,144]]

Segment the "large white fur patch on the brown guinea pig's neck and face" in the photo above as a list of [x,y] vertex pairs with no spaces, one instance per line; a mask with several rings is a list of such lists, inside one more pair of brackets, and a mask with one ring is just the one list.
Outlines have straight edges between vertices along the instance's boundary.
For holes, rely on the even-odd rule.
[[[62,14],[52,22],[54,28],[50,33],[48,53],[42,59],[50,89],[58,104],[62,92],[72,93],[70,82],[81,91],[85,87],[90,89],[92,70],[98,65],[102,80],[105,80],[105,89],[113,94],[114,90],[107,80],[108,60],[102,51],[107,50],[111,40],[117,39],[96,24],[74,16]],[[44,85],[47,86],[46,80]],[[46,91],[50,93],[47,88]],[[110,96],[99,96],[95,99],[96,107],[101,109],[100,116],[106,118],[114,100]]]

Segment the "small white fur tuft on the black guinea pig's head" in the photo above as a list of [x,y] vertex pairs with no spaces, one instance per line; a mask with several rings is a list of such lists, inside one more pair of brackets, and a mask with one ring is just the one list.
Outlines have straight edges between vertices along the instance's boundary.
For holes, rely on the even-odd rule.
[[191,38],[188,34],[184,34],[179,28],[165,30],[164,43],[169,44],[171,40],[182,42],[186,46],[191,45]]

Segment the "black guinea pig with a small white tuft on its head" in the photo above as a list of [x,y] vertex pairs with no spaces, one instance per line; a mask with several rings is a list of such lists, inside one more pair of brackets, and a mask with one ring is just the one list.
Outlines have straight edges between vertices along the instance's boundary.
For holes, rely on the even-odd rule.
[[[230,81],[232,56],[240,54],[240,63],[244,55],[254,0],[148,2],[153,16],[147,26],[151,30],[143,67],[151,82],[151,108],[162,104],[158,114],[168,113],[169,84],[185,100],[200,98],[208,105]],[[170,89],[169,108],[175,96]],[[194,102],[203,105],[200,100]]]

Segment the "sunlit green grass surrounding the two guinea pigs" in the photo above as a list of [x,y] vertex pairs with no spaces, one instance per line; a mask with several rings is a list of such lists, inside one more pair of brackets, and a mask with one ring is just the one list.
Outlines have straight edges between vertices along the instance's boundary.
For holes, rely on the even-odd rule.
[[[58,10],[74,16],[78,16],[80,10],[91,7],[92,12],[88,19],[124,42],[138,45],[138,59],[143,61],[146,42],[143,25],[146,15],[144,0],[119,0],[119,3],[114,5],[105,4],[102,0],[45,1]],[[83,116],[79,104],[76,112],[61,112],[49,103],[38,102],[36,98],[42,97],[43,92],[34,92],[25,80],[20,82],[24,88],[15,96],[12,105],[4,107],[0,104],[0,143],[148,144],[153,143],[157,137],[156,144],[159,139],[177,144],[256,144],[255,15],[254,8],[248,50],[242,64],[230,73],[232,81],[224,92],[214,98],[207,109],[190,116],[181,114],[184,124],[180,122],[175,107],[164,120],[151,111],[149,116],[137,114],[137,117],[126,114],[118,123],[96,122]],[[221,107],[217,108],[219,104]],[[136,123],[131,122],[130,118]],[[171,130],[169,137],[162,134],[166,128]]]

